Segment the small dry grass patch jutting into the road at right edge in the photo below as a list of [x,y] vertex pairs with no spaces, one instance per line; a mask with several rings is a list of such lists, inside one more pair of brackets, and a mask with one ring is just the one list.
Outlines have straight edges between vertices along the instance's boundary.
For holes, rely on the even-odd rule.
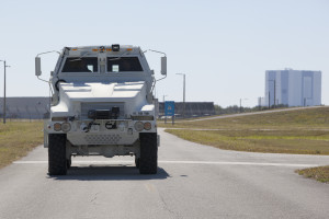
[[297,170],[296,173],[322,183],[329,183],[329,165]]

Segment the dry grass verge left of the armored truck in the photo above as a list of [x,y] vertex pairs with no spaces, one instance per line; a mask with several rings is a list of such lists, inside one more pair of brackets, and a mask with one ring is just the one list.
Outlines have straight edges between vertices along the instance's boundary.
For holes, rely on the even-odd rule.
[[43,143],[43,122],[0,124],[0,168],[18,160]]

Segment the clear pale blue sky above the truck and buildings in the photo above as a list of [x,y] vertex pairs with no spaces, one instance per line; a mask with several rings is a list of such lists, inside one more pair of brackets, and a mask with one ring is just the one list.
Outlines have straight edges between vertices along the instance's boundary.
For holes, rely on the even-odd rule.
[[[134,45],[167,54],[168,77],[156,96],[220,106],[256,106],[265,70],[320,70],[329,104],[328,0],[1,0],[0,59],[7,96],[47,96],[34,58],[65,46]],[[159,54],[146,54],[159,79]],[[42,56],[48,79],[58,55]],[[0,96],[3,64],[0,62]]]

